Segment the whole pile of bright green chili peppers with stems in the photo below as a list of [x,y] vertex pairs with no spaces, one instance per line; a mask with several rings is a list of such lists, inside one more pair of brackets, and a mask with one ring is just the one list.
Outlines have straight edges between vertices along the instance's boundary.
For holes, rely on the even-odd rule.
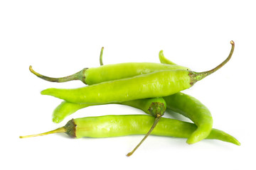
[[[53,111],[53,122],[60,123],[68,115],[88,106],[109,103],[132,106],[148,115],[104,115],[99,117],[77,118],[68,121],[62,128],[44,132],[35,137],[56,132],[65,132],[71,137],[118,137],[124,135],[145,135],[139,145],[151,135],[185,137],[188,144],[204,139],[222,140],[240,145],[235,137],[213,128],[210,111],[200,101],[180,91],[190,88],[197,81],[223,67],[233,55],[230,54],[221,64],[207,72],[193,72],[164,57],[159,52],[159,63],[121,63],[103,65],[100,52],[100,67],[85,68],[68,77],[52,78],[30,71],[41,79],[53,82],[80,80],[88,86],[78,89],[46,89],[43,95],[55,96],[64,101]],[[191,119],[193,123],[170,118],[162,118],[166,108]],[[139,147],[135,147],[133,152]]]

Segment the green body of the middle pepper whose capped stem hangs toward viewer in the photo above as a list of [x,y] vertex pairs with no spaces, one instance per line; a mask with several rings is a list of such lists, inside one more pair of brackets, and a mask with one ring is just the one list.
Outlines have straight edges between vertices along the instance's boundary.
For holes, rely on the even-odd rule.
[[[121,105],[126,105],[126,106],[132,106],[134,108],[138,108],[138,109],[144,111],[146,114],[151,115],[153,113],[153,116],[156,117],[156,112],[149,112],[151,103],[163,103],[164,107],[166,108],[166,101],[164,100],[164,98],[143,98],[143,99],[138,99],[135,101],[124,101],[121,103],[112,103],[112,104],[121,104]],[[102,103],[102,105],[103,104],[104,103]],[[70,103],[67,101],[63,101],[53,111],[53,122],[60,123],[68,115],[75,113],[76,111],[80,110],[81,108],[86,108],[88,106],[95,106],[95,105],[101,105],[101,104]],[[164,111],[165,111],[165,109],[164,109]],[[164,113],[162,113],[162,114],[164,114]]]

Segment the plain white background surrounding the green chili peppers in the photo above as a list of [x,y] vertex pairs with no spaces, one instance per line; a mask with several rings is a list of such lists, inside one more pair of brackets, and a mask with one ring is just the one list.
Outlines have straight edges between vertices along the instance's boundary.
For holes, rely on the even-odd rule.
[[[254,1],[1,1],[1,164],[4,169],[255,169]],[[80,81],[55,84],[28,70],[62,77],[103,62],[170,60],[206,71],[233,58],[186,94],[210,109],[214,128],[235,136],[241,146],[217,140],[187,145],[186,139],[142,136],[79,140],[67,135],[19,139],[93,115],[144,114],[109,105],[85,108],[56,125],[60,100],[41,96],[49,87],[75,88]],[[166,117],[171,117],[166,113]],[[177,117],[177,116],[175,116]],[[179,117],[181,118],[181,117]],[[183,118],[181,118],[184,120]],[[0,167],[0,169],[3,169]]]

